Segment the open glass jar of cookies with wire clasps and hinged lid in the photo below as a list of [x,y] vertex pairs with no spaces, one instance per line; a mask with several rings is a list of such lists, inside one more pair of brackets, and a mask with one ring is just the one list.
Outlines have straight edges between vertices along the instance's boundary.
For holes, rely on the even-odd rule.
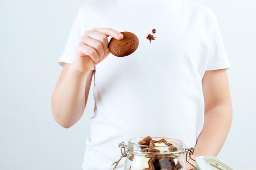
[[[138,144],[145,137],[133,138],[119,144],[121,157],[113,165],[117,167],[119,161],[126,157],[124,170],[186,170],[183,154],[190,157],[195,163],[187,161],[194,170],[236,170],[228,163],[211,156],[199,156],[196,160],[191,158],[194,148],[184,149],[183,142],[177,139],[152,137],[154,146]],[[164,141],[162,140],[164,139]]]

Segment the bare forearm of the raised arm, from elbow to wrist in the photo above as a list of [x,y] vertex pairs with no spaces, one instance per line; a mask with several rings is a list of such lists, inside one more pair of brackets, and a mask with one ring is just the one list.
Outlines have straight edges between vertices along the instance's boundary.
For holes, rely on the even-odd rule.
[[54,119],[65,128],[74,125],[85,109],[85,84],[88,72],[79,72],[69,65],[52,94]]

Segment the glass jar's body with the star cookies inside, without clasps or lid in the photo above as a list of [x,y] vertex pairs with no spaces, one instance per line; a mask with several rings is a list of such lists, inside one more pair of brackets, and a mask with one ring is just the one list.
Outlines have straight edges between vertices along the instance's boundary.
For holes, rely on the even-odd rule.
[[125,170],[185,170],[183,143],[177,139],[142,137],[128,141]]

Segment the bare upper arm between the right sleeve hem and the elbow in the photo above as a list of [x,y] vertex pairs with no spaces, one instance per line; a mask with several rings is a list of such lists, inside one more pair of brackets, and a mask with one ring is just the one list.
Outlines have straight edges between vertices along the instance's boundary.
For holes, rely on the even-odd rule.
[[205,113],[215,106],[231,106],[226,69],[206,71],[202,79],[202,89]]

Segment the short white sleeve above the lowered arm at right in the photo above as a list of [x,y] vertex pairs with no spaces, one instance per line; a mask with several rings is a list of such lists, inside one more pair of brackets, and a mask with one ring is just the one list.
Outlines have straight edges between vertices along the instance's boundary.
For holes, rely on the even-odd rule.
[[220,29],[217,23],[216,16],[212,18],[212,23],[210,23],[210,51],[209,60],[207,64],[207,71],[218,70],[224,68],[230,68],[230,62],[225,51],[225,47],[220,34]]

